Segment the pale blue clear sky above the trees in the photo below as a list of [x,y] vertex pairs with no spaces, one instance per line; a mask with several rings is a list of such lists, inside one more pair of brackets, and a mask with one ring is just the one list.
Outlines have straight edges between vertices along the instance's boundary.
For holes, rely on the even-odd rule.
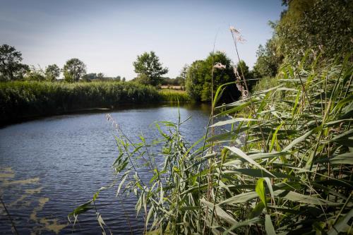
[[0,44],[22,52],[23,63],[62,68],[78,58],[88,73],[136,77],[133,61],[154,51],[166,76],[215,50],[237,63],[229,26],[246,40],[239,54],[251,68],[259,44],[270,39],[280,0],[0,0]]

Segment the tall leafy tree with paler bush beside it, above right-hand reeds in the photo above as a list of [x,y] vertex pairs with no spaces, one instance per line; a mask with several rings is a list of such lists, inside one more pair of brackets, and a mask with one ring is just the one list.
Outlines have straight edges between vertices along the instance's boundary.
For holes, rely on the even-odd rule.
[[[273,37],[258,48],[256,78],[275,76],[282,63],[297,65],[309,55],[340,58],[352,52],[353,1],[283,0],[287,9],[270,22]],[[311,52],[308,54],[308,52]]]

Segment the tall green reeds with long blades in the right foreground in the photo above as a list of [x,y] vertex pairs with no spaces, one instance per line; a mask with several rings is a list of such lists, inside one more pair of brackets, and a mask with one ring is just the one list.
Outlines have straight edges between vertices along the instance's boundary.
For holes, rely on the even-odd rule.
[[[156,123],[158,141],[131,143],[118,128],[113,167],[121,181],[110,187],[136,195],[146,234],[352,233],[353,66],[317,65],[283,66],[275,87],[215,107],[210,120],[227,120],[208,130],[231,128],[207,131],[198,148],[184,142],[180,117]],[[149,181],[136,159],[145,160]],[[98,193],[71,215],[97,200]]]

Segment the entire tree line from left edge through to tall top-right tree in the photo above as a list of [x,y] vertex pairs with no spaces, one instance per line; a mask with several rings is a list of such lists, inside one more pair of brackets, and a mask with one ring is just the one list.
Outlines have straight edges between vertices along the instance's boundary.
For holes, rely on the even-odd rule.
[[[256,80],[274,77],[283,64],[298,64],[307,57],[308,64],[318,58],[341,57],[352,52],[353,1],[337,0],[282,0],[287,9],[280,20],[270,26],[273,37],[260,45],[256,63],[250,70],[244,61],[234,65],[223,52],[211,52],[207,58],[185,65],[177,78],[166,78],[169,69],[162,66],[155,52],[144,52],[133,62],[137,77],[132,81],[144,85],[182,85],[192,100],[210,102],[211,93],[230,81],[235,81],[234,70],[242,71],[249,89]],[[329,22],[329,23],[328,23]],[[79,59],[69,59],[64,68],[56,64],[35,68],[22,64],[22,54],[14,47],[0,46],[0,80],[50,80],[62,72],[67,82],[79,80],[125,80],[104,77],[103,73],[86,73],[86,66]],[[215,66],[220,64],[222,66]],[[213,81],[212,81],[213,78]],[[213,83],[213,84],[212,84]],[[211,88],[212,87],[212,88]],[[225,100],[237,100],[239,91],[234,87],[223,92]]]

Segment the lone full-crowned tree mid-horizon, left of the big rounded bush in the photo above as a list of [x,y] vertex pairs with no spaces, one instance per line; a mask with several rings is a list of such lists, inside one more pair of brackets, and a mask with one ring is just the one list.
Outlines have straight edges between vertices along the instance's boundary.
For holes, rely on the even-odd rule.
[[138,74],[138,82],[150,85],[158,85],[162,81],[162,76],[168,73],[168,68],[163,68],[160,59],[155,52],[145,52],[137,56],[135,62],[135,73]]

